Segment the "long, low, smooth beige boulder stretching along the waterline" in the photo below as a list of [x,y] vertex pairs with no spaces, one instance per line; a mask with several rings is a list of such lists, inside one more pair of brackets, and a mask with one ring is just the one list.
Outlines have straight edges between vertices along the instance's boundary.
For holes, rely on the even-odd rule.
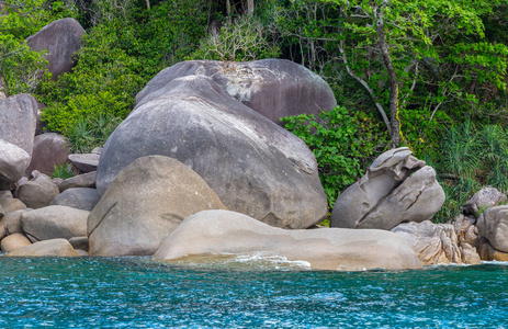
[[418,269],[407,242],[383,230],[286,230],[244,214],[206,211],[185,218],[154,254],[158,261],[193,254],[261,253],[306,261],[313,269]]

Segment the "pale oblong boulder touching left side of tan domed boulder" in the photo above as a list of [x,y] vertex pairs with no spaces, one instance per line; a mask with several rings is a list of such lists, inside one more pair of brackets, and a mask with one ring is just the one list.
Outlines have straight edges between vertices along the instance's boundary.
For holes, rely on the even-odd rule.
[[21,226],[32,242],[70,239],[87,235],[90,212],[66,206],[47,206],[21,215]]

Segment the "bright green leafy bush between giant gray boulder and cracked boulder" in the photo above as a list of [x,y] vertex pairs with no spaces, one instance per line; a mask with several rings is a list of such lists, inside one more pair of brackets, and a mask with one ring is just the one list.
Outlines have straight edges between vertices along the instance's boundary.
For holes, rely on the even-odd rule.
[[[386,135],[372,116],[342,106],[282,118],[285,128],[313,150],[330,208],[342,190],[358,180],[373,157],[385,150]],[[380,143],[381,141],[381,143]]]

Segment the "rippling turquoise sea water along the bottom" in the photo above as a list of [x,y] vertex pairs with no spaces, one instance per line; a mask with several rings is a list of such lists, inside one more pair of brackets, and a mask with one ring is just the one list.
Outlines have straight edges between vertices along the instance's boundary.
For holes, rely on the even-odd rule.
[[0,257],[0,328],[505,328],[508,265],[309,271],[253,258]]

